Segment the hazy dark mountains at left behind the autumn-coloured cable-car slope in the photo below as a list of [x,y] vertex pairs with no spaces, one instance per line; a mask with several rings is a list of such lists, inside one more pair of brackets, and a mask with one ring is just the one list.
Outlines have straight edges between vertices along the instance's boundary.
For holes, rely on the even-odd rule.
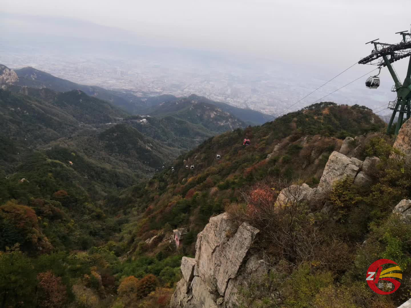
[[[40,151],[46,163],[69,165],[81,186],[90,186],[84,184],[88,181],[99,187],[96,196],[152,176],[217,133],[252,123],[225,111],[246,118],[240,108],[216,106],[195,95],[139,98],[30,67],[13,71],[1,65],[0,73],[0,118],[5,124],[0,150],[6,172]],[[136,109],[148,113],[130,112]],[[261,122],[264,117],[253,112],[250,119]],[[102,177],[104,173],[113,176]]]

